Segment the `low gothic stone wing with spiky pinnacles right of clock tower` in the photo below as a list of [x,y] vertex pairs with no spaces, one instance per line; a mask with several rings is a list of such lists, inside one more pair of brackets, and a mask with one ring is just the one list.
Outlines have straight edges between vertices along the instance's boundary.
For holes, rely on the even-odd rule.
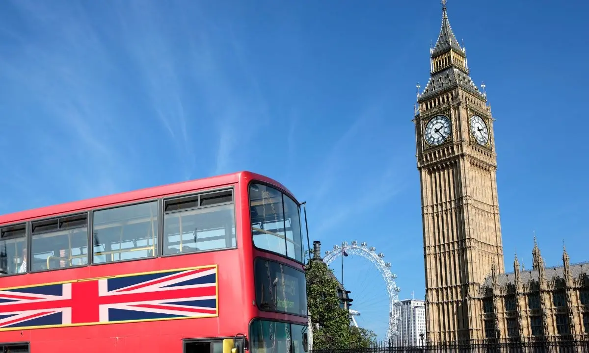
[[544,266],[534,241],[531,270],[520,267],[498,274],[493,269],[481,286],[485,338],[589,338],[589,262]]

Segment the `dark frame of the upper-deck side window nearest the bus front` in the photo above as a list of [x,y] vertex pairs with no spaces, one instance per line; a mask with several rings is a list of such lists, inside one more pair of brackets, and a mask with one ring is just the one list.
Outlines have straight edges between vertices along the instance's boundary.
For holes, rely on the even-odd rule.
[[[174,199],[188,198],[188,197],[193,197],[193,196],[197,196],[197,195],[200,197],[200,195],[213,194],[214,192],[227,191],[227,190],[231,190],[231,197],[233,197],[233,201],[231,201],[231,202],[222,202],[220,204],[204,206],[204,207],[200,207],[200,205],[199,205],[198,207],[186,208],[186,209],[180,209],[177,211],[166,212],[166,208],[165,208],[166,201],[170,201],[170,200],[174,200]],[[237,196],[239,196],[239,195],[237,195]],[[217,251],[239,249],[239,233],[237,232],[237,212],[239,212],[239,210],[237,209],[237,199],[238,198],[239,197],[236,197],[235,185],[215,187],[213,189],[204,189],[204,190],[200,190],[200,191],[191,191],[191,192],[184,193],[184,194],[171,195],[171,196],[161,198],[161,212],[160,212],[161,225],[160,225],[160,227],[158,227],[158,231],[160,231],[160,238],[161,238],[161,242],[160,242],[161,244],[158,244],[159,256],[162,258],[167,258],[167,257],[181,256],[181,255],[203,254],[205,252],[217,252]],[[200,204],[200,198],[198,198],[198,201]],[[249,204],[249,202],[248,202],[248,204]],[[191,252],[186,252],[186,253],[178,252],[176,254],[164,254],[164,217],[166,216],[166,214],[174,214],[174,213],[179,213],[179,212],[184,212],[184,211],[190,211],[192,209],[204,209],[204,208],[211,208],[211,207],[225,206],[225,205],[233,205],[233,226],[235,227],[235,246],[234,247],[199,250],[199,251],[191,251]]]

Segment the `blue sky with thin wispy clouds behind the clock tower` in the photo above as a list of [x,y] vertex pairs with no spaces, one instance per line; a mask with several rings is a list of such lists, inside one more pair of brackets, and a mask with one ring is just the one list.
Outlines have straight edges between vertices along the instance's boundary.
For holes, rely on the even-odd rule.
[[[588,12],[448,2],[496,119],[507,268],[532,231],[547,265],[563,240],[589,260]],[[0,212],[247,169],[307,201],[312,241],[368,242],[423,298],[411,119],[440,24],[435,0],[3,1]],[[382,298],[363,266],[350,289]]]

